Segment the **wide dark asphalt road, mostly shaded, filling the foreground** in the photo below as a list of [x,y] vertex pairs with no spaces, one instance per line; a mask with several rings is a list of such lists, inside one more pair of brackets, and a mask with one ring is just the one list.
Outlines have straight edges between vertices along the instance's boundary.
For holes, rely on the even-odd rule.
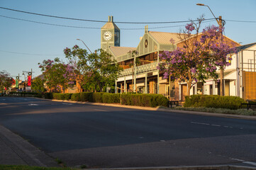
[[0,124],[67,166],[256,167],[256,121],[1,97]]

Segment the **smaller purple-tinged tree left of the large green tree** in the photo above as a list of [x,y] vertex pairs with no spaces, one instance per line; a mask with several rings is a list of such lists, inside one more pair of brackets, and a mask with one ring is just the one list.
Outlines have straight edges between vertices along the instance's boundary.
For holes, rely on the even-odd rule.
[[46,85],[51,91],[65,91],[68,87],[74,86],[75,74],[70,64],[61,62],[59,58],[55,60],[43,60],[38,63],[41,72],[45,75]]

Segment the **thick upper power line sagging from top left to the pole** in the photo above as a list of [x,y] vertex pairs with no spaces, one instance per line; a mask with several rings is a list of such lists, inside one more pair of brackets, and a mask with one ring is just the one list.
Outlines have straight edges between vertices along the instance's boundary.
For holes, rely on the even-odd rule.
[[[81,19],[81,18],[68,18],[68,17],[63,17],[63,16],[52,16],[52,15],[46,15],[46,14],[42,14],[42,13],[32,13],[32,12],[28,12],[28,11],[20,11],[17,9],[12,9],[12,8],[4,8],[1,7],[1,9],[6,9],[9,11],[16,11],[16,12],[21,12],[21,13],[28,13],[28,14],[33,14],[33,15],[37,15],[37,16],[47,16],[47,17],[52,17],[52,18],[61,18],[61,19],[69,19],[69,20],[76,20],[76,21],[89,21],[89,22],[97,22],[97,23],[107,23],[107,21],[99,21],[99,20],[89,20],[89,19]],[[209,19],[205,19],[205,21],[207,20],[212,20],[215,18],[209,18]],[[199,20],[193,20],[193,21],[199,21]],[[116,21],[115,23],[133,23],[133,24],[160,24],[160,23],[188,23],[191,21],[165,21],[165,22],[122,22],[122,21]]]

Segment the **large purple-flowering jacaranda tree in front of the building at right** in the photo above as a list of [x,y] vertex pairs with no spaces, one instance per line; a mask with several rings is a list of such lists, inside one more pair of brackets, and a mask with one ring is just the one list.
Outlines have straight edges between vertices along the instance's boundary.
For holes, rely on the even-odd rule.
[[[189,91],[193,82],[204,81],[208,77],[218,78],[217,68],[230,64],[228,54],[235,49],[235,45],[223,38],[224,28],[208,26],[199,33],[201,21],[203,18],[199,18],[198,23],[187,24],[179,33],[181,42],[178,47],[172,52],[160,54],[158,69],[164,72],[164,77],[169,77],[171,81],[187,82]],[[175,43],[174,40],[170,41]]]

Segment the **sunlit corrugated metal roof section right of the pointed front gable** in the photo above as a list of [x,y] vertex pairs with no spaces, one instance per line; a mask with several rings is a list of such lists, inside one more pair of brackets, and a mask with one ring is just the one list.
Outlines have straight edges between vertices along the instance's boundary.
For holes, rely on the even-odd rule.
[[172,45],[172,42],[170,42],[171,39],[173,39],[175,42],[179,42],[179,33],[165,33],[156,31],[149,31],[148,33],[160,44]]

